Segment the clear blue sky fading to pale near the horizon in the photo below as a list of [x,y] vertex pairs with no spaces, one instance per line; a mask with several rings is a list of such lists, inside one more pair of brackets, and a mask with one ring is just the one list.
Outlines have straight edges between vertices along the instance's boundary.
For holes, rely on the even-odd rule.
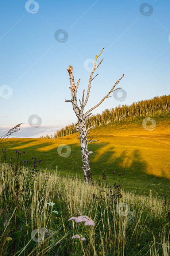
[[[81,99],[103,47],[86,110],[123,73],[124,101],[116,99],[120,92],[111,94],[93,114],[170,94],[170,1],[146,1],[1,0],[0,135],[25,123],[14,136],[38,138],[77,121],[65,102],[71,99],[67,68],[73,65],[76,82],[81,78]],[[28,124],[32,115],[38,127]]]

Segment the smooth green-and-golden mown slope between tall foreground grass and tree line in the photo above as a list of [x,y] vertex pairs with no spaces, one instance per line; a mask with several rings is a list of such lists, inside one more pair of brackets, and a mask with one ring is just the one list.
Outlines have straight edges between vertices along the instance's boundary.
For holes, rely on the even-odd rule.
[[[90,163],[94,180],[98,180],[104,169],[107,181],[115,182],[112,171],[124,172],[121,181],[125,181],[125,189],[137,193],[152,191],[158,196],[168,195],[170,188],[170,118],[154,117],[157,126],[154,131],[146,131],[142,127],[142,119],[126,124],[113,124],[98,127],[91,131],[89,138],[99,142],[89,144]],[[60,144],[71,147],[69,157],[61,157],[57,153]],[[42,168],[55,170],[61,174],[78,175],[83,178],[80,142],[76,134],[58,139],[8,139],[1,144],[8,148],[8,156],[15,150],[26,150],[24,159],[34,156],[42,159]],[[14,154],[15,155],[15,154]],[[159,184],[160,183],[160,184]]]

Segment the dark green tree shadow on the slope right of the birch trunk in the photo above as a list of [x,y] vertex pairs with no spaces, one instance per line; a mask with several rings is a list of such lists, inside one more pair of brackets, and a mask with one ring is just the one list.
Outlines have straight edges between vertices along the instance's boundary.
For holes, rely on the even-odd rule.
[[[144,192],[149,194],[151,192],[154,195],[158,193],[159,196],[169,195],[169,180],[148,174],[148,163],[141,157],[138,149],[132,152],[130,164],[125,165],[124,161],[127,158],[125,151],[116,156],[114,147],[109,148],[107,152],[102,153],[100,159],[91,162],[93,179],[96,181],[99,177],[101,179],[101,173],[104,170],[107,182],[113,184],[114,182],[121,183],[123,181],[125,182],[124,188],[128,192],[136,190],[139,194]],[[109,159],[109,161],[107,162],[106,159]],[[113,171],[115,171],[115,174],[113,174]],[[119,176],[119,173],[124,173],[124,175]]]

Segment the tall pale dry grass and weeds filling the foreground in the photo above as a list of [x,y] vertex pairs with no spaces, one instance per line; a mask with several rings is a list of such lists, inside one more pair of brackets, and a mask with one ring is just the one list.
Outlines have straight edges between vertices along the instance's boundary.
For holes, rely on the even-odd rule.
[[[14,162],[1,164],[0,172],[0,255],[169,256],[170,216],[164,199],[121,191],[122,197],[111,203],[114,188],[105,183],[100,192],[102,183],[89,186],[34,167],[20,169]],[[123,176],[112,175],[121,184]],[[80,215],[95,225],[68,221]]]

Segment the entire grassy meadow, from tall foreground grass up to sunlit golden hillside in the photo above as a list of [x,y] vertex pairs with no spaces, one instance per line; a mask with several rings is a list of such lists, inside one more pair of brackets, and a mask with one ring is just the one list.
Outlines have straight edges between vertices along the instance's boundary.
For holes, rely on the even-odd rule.
[[0,256],[169,256],[170,118],[153,131],[142,120],[92,130],[93,185],[75,133],[4,140]]

